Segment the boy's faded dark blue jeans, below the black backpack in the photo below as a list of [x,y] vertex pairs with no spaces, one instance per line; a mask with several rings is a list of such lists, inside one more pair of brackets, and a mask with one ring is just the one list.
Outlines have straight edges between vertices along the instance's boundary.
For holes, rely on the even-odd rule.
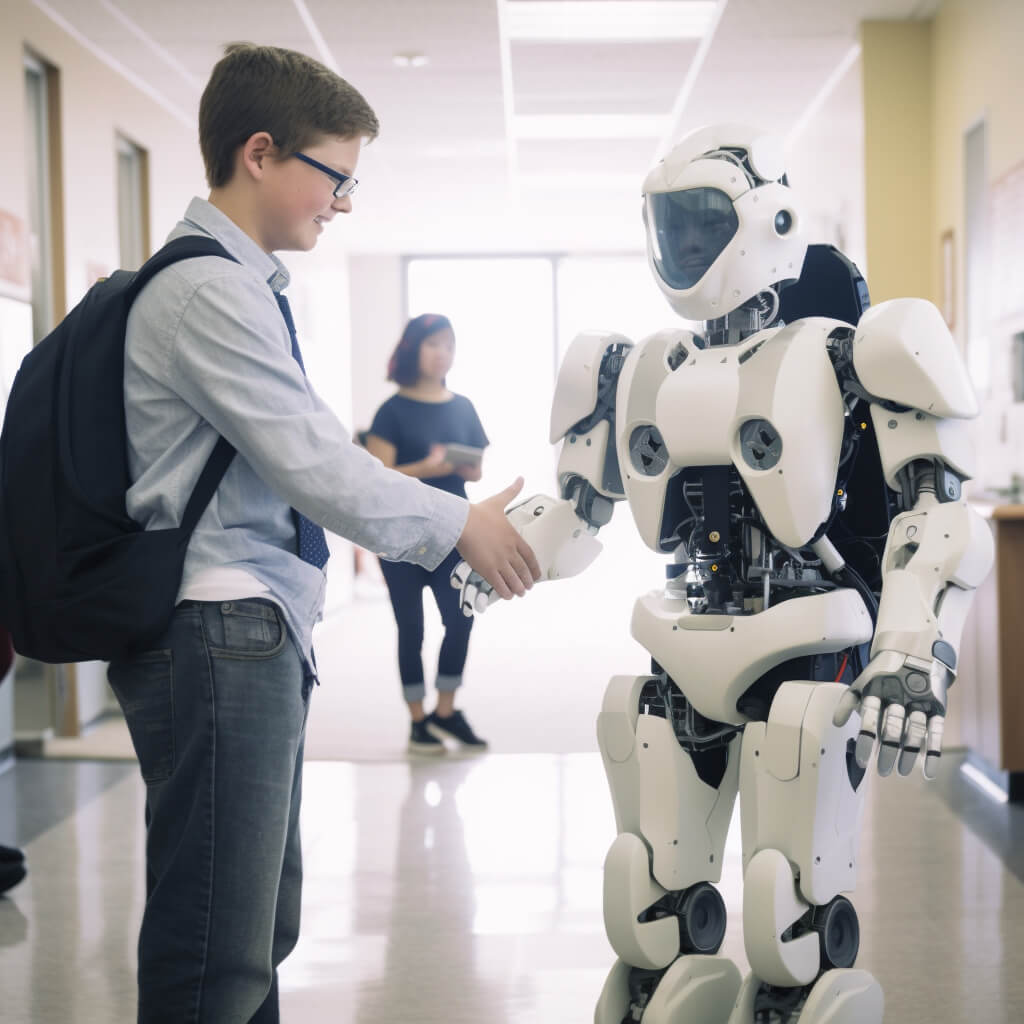
[[312,679],[275,604],[186,601],[112,664],[146,785],[139,1024],[276,1024]]

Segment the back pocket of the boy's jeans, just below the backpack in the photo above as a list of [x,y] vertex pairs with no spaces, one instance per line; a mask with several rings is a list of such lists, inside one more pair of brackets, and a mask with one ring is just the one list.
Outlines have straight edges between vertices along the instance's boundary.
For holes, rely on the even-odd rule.
[[174,673],[169,650],[151,650],[111,664],[111,689],[124,712],[145,782],[174,771]]

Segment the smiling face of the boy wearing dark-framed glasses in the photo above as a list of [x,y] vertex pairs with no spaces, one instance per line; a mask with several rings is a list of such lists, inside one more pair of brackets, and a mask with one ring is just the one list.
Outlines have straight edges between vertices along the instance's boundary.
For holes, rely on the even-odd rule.
[[[360,138],[328,136],[305,146],[302,153],[351,176],[359,159]],[[338,213],[349,213],[352,199],[334,198],[337,180],[296,159],[268,155],[262,161],[260,218],[256,241],[270,253],[279,250],[308,251]]]

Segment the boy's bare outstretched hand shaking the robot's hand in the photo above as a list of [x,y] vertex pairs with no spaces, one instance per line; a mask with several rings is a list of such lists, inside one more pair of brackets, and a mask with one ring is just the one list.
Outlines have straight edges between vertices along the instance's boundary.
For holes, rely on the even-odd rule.
[[541,579],[532,548],[505,516],[505,506],[522,490],[522,477],[485,501],[469,506],[469,518],[456,543],[459,554],[483,577],[499,597],[523,594]]

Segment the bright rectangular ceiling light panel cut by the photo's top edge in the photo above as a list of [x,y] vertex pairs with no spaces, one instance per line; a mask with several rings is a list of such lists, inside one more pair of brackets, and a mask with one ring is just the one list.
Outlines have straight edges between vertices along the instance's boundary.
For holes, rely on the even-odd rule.
[[699,39],[714,0],[506,0],[512,40],[637,42]]

